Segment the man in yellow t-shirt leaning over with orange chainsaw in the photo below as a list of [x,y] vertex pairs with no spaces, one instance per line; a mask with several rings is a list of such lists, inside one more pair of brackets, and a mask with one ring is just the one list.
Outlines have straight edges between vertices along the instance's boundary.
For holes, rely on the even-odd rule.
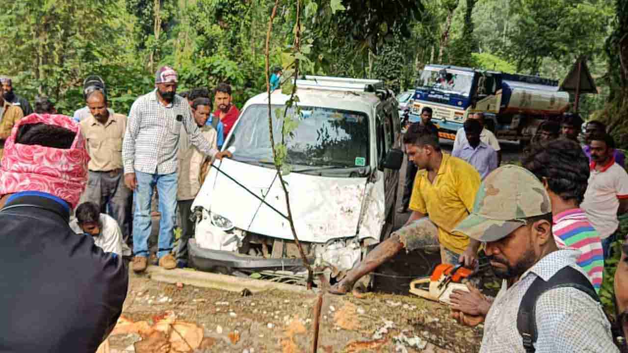
[[470,214],[480,175],[460,158],[442,153],[438,133],[416,124],[403,137],[408,160],[419,168],[414,178],[408,222],[371,251],[345,278],[330,288],[344,294],[355,282],[370,273],[404,247],[408,250],[440,249],[442,263],[474,266],[479,241],[453,229]]

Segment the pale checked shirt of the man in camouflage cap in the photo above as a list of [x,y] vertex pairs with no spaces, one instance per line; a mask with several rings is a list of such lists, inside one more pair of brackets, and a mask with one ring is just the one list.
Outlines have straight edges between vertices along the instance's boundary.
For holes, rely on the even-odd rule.
[[[503,281],[486,315],[480,353],[525,353],[517,330],[517,313],[523,295],[537,277],[547,281],[565,266],[583,273],[576,264],[578,256],[580,251],[577,250],[557,250],[540,259],[510,288]],[[536,300],[535,316],[536,353],[619,352],[602,305],[583,291],[569,287],[546,291]]]

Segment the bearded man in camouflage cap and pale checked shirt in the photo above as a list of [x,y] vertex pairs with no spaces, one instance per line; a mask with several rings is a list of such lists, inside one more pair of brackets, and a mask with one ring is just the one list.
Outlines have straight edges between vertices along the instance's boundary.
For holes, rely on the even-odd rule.
[[[580,252],[559,250],[551,225],[551,204],[543,184],[530,171],[506,165],[485,178],[473,212],[456,227],[485,243],[495,276],[504,280],[487,313],[463,313],[465,303],[452,295],[452,317],[458,322],[475,326],[485,321],[480,352],[525,351],[517,314],[524,294],[538,278],[550,281],[570,267],[590,285],[576,264]],[[470,290],[482,296],[477,289]],[[592,286],[590,290],[595,295]],[[617,352],[602,307],[585,291],[570,285],[552,288],[538,296],[535,310],[536,352]]]

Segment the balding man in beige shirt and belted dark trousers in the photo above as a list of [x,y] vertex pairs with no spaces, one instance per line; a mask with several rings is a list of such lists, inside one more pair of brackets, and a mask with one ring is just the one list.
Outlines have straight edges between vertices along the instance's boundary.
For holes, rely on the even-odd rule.
[[107,109],[107,97],[100,90],[94,90],[87,96],[87,106],[90,116],[83,119],[80,126],[91,159],[87,165],[89,180],[80,204],[94,202],[100,207],[100,212],[111,215],[122,229],[124,242],[128,244],[133,193],[124,184],[122,173],[122,138],[126,130],[126,116],[111,114]]

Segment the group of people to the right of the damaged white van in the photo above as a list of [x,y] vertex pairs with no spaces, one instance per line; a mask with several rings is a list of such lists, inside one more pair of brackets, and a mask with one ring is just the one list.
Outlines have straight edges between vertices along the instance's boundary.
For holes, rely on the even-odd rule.
[[[344,294],[401,249],[440,251],[441,262],[477,268],[480,245],[495,276],[495,298],[470,286],[451,296],[452,317],[484,323],[480,352],[615,352],[598,297],[604,260],[628,212],[624,154],[600,121],[539,124],[521,166],[502,165],[499,142],[470,114],[443,153],[431,109],[403,136],[409,163],[399,212],[408,222],[330,289]],[[416,176],[414,176],[416,175]],[[622,247],[626,261],[628,246]],[[615,272],[617,322],[628,334],[628,281]]]

